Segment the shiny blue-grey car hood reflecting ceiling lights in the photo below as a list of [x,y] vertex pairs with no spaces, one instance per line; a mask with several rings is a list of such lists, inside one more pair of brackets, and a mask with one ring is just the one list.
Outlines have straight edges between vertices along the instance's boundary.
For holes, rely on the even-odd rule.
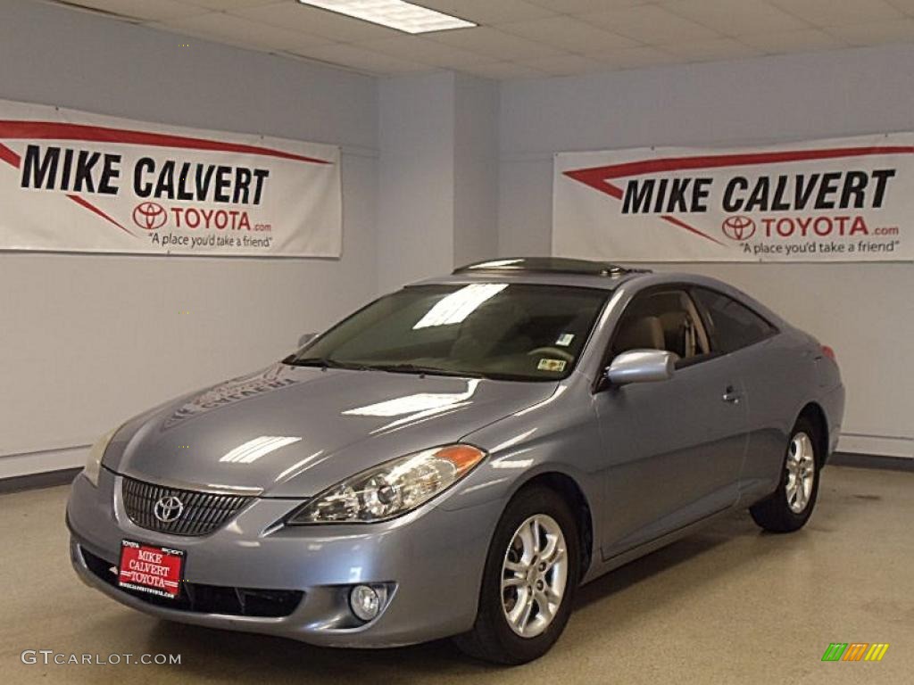
[[556,387],[273,364],[137,416],[104,465],[188,489],[311,496],[388,459],[455,442]]

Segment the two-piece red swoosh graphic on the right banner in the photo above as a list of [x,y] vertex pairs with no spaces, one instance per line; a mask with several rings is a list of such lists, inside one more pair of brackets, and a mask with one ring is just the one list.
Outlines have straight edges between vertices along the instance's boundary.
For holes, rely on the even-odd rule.
[[[637,162],[624,162],[606,166],[593,166],[587,169],[575,169],[564,172],[579,183],[590,185],[600,193],[611,195],[617,200],[622,199],[622,188],[611,184],[610,179],[643,174],[655,174],[667,171],[684,171],[689,169],[715,169],[726,166],[747,166],[749,164],[771,164],[779,162],[808,162],[811,160],[840,159],[841,157],[862,157],[874,154],[911,154],[914,146],[911,145],[886,145],[883,147],[850,147],[826,148],[823,150],[796,150],[772,153],[729,153],[729,154],[703,154],[694,157],[664,157],[661,159],[639,160]],[[685,228],[708,240],[724,245],[714,237],[686,224],[685,221],[675,216],[664,215],[660,218],[676,227]]]

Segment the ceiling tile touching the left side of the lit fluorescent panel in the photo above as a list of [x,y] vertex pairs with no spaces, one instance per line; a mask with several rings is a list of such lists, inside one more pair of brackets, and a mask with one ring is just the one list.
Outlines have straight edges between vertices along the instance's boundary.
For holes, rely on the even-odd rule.
[[378,40],[404,35],[393,28],[377,26],[317,7],[308,7],[294,0],[234,10],[230,14],[261,24],[324,36],[337,43],[356,43],[360,40]]

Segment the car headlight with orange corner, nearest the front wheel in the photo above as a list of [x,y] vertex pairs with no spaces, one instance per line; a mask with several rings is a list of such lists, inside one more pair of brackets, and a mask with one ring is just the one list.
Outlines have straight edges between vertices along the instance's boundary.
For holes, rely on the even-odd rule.
[[369,523],[412,511],[462,479],[485,457],[470,445],[425,449],[362,471],[324,490],[292,524]]

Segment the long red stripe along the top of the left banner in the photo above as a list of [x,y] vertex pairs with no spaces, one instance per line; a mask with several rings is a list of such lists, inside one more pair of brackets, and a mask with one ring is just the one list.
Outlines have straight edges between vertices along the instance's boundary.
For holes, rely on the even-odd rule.
[[176,147],[217,153],[259,154],[264,157],[276,157],[313,164],[332,163],[317,157],[306,157],[302,154],[286,153],[282,150],[273,150],[272,148],[259,147],[257,145],[211,141],[206,138],[190,138],[169,133],[112,129],[105,126],[88,126],[80,123],[58,123],[56,121],[0,120],[0,139],[4,138],[6,140],[120,142],[128,145]]

